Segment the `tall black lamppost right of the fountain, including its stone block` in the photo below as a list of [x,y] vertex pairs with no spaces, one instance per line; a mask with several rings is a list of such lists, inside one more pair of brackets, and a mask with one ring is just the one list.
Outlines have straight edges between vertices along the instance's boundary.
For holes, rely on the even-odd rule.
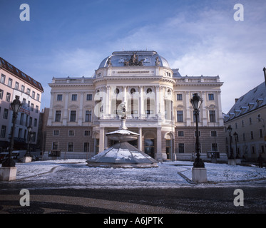
[[203,160],[200,158],[200,140],[198,134],[198,114],[200,112],[200,105],[203,103],[203,99],[200,98],[198,93],[193,94],[193,98],[190,99],[190,103],[194,109],[194,115],[196,120],[196,159],[193,163],[192,169],[192,180],[193,182],[207,182],[207,170],[205,169],[205,165]]

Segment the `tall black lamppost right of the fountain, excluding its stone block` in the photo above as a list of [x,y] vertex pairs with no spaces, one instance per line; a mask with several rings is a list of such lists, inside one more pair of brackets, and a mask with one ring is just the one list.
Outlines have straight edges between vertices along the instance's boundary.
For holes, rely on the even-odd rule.
[[196,145],[195,145],[195,151],[196,151],[196,159],[193,163],[193,167],[195,168],[204,168],[204,162],[200,158],[200,140],[199,140],[199,134],[198,134],[198,115],[200,112],[200,105],[203,103],[203,99],[200,98],[198,93],[193,94],[193,98],[190,99],[190,103],[193,106],[194,114],[195,114],[195,120],[196,120]]

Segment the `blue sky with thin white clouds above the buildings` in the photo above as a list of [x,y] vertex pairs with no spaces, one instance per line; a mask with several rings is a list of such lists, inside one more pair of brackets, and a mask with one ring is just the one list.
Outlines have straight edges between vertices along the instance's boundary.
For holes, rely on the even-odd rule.
[[153,50],[182,76],[219,75],[224,113],[264,81],[265,0],[0,0],[0,21],[0,56],[42,84],[41,108],[53,77],[91,77],[113,51]]

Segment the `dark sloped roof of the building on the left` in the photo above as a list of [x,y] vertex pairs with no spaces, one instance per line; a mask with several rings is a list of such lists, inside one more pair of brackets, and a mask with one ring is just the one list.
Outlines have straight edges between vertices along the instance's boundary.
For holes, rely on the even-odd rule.
[[41,90],[41,92],[44,92],[44,88],[41,86],[41,83],[34,80],[34,78],[31,78],[30,76],[26,75],[26,73],[20,71],[18,68],[16,68],[15,66],[13,66],[8,61],[4,60],[4,58],[1,57],[0,57],[0,66],[5,68],[6,71],[9,71],[10,73],[13,73],[17,77],[21,78],[21,80],[30,83],[31,86],[34,86],[35,88]]

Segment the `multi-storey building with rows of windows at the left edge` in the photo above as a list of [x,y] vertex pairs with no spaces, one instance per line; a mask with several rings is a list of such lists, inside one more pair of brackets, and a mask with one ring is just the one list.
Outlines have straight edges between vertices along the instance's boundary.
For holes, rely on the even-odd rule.
[[11,63],[0,58],[0,151],[7,150],[11,136],[12,115],[11,102],[16,95],[23,103],[16,119],[14,133],[14,150],[25,150],[28,140],[29,125],[32,126],[31,142],[36,145],[41,94],[41,83],[20,71]]

